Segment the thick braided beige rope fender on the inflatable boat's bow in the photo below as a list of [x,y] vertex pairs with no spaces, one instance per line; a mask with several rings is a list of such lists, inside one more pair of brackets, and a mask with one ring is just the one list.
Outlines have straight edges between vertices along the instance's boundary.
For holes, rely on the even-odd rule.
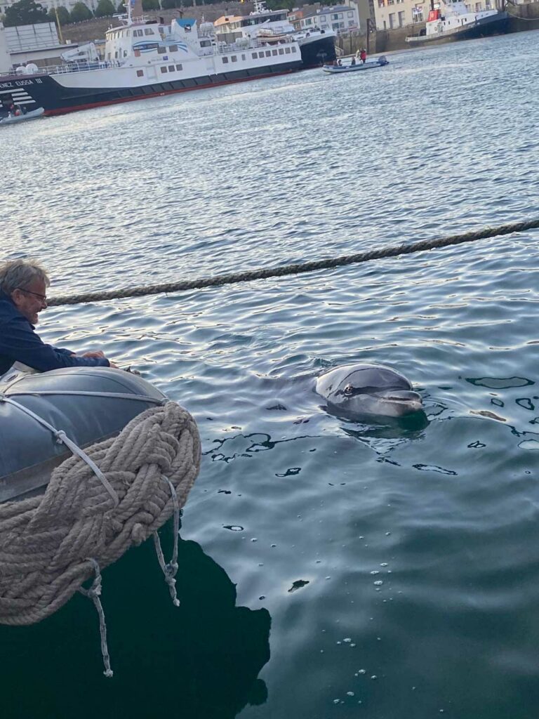
[[190,413],[169,401],[132,419],[86,454],[119,502],[73,455],[51,475],[45,494],[0,505],[0,623],[49,616],[103,568],[157,531],[174,510],[167,477],[183,507],[201,463]]

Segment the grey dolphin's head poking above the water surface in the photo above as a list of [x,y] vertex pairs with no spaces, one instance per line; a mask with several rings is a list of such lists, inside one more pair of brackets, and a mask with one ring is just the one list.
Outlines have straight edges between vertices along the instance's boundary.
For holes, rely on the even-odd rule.
[[410,380],[384,365],[336,367],[318,377],[315,391],[326,399],[328,411],[344,418],[400,418],[423,411],[421,397]]

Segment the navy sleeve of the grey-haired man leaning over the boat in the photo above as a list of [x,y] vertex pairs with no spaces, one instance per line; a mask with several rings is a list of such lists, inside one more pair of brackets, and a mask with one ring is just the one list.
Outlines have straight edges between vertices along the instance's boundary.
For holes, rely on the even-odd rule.
[[56,349],[45,344],[22,316],[10,319],[1,327],[0,354],[38,372],[60,370],[62,367],[109,367],[108,359],[72,357],[68,349]]

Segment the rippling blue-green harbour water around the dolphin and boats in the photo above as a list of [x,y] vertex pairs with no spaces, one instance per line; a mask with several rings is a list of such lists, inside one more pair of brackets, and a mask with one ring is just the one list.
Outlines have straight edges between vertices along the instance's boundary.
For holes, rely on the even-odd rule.
[[[537,39],[8,127],[1,257],[58,294],[530,219]],[[203,462],[180,608],[147,544],[103,574],[114,679],[83,597],[0,627],[2,716],[535,719],[538,239],[47,310],[47,341],[186,406]],[[325,413],[314,377],[355,361],[404,372],[426,420]]]

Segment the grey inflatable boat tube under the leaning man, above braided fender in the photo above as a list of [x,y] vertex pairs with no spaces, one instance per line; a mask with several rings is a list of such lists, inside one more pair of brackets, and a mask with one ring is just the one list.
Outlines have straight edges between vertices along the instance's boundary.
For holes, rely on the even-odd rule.
[[53,429],[84,448],[165,401],[141,377],[108,367],[69,367],[0,385],[0,502],[35,493],[70,456]]

